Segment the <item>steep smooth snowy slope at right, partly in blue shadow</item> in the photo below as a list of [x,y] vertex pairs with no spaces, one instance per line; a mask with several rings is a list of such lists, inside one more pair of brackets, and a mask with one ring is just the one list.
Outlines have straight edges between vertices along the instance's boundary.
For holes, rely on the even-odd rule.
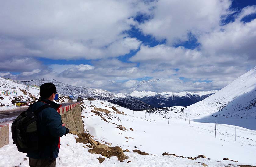
[[217,121],[256,130],[256,67],[219,92],[187,107],[185,113],[200,122]]

